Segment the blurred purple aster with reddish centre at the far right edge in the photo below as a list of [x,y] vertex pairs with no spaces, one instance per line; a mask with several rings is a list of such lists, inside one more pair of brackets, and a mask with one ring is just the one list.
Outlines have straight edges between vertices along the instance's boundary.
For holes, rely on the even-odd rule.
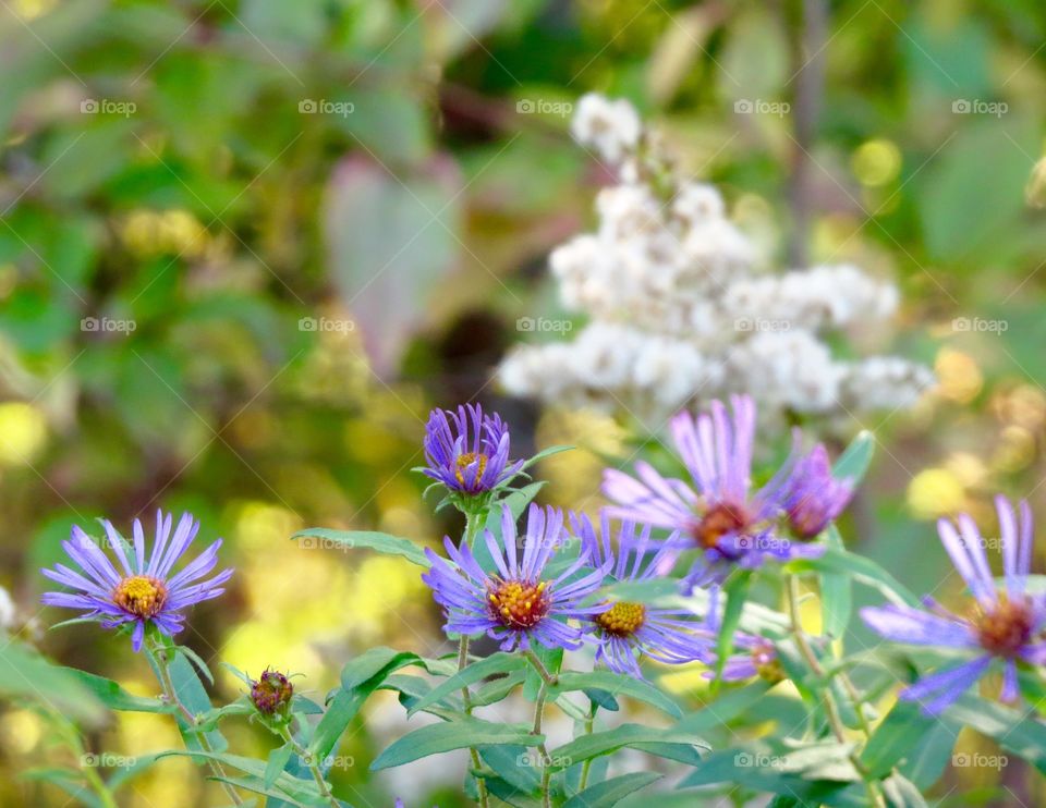
[[[1032,563],[1032,511],[1020,503],[1020,521],[1005,497],[996,497],[1002,539],[1005,586],[996,587],[984,552],[984,539],[966,514],[957,525],[937,523],[941,543],[976,601],[972,615],[960,616],[924,598],[926,609],[907,605],[871,607],[861,616],[875,632],[895,642],[969,650],[973,659],[920,680],[901,691],[901,698],[919,701],[927,713],[938,713],[977,682],[993,660],[1002,661],[1004,701],[1018,697],[1017,662],[1046,663],[1046,603],[1026,591]],[[956,529],[958,526],[958,530]]]

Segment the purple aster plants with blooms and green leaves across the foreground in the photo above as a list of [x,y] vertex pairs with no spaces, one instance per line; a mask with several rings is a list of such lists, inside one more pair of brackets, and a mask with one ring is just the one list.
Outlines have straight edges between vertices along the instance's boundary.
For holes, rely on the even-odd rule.
[[[844,546],[837,521],[871,461],[871,436],[832,462],[796,433],[764,468],[757,423],[746,396],[677,416],[673,451],[632,473],[608,469],[611,502],[587,514],[537,504],[539,480],[516,483],[534,458],[510,460],[510,428],[496,414],[435,413],[422,470],[442,487],[441,505],[460,512],[460,536],[438,546],[309,528],[294,538],[417,566],[446,645],[436,656],[369,648],[315,700],[279,670],[252,677],[223,662],[242,691],[212,703],[208,663],[174,638],[192,607],[232,578],[212,574],[219,542],[193,555],[202,528],[192,517],[172,531],[161,514],[151,547],[139,523],[131,542],[108,522],[101,540],[74,528],[65,550],[78,570],[45,571],[65,587],[45,602],[80,611],[69,621],[76,631],[97,622],[127,634],[161,695],[62,675],[110,710],[169,714],[184,748],[155,760],[206,766],[223,804],[350,805],[332,760],[379,689],[398,696],[408,720],[428,720],[369,769],[457,752],[461,795],[484,808],[624,806],[655,794],[669,805],[925,805],[962,726],[1046,770],[1037,713],[1046,596],[1032,574],[1031,506],[1014,512],[997,500],[1000,577],[971,517],[941,521],[971,600],[951,611]],[[885,601],[862,609],[861,621],[858,585]],[[861,634],[862,623],[872,632]],[[271,734],[267,758],[230,749],[222,727],[231,721]],[[76,776],[94,803],[115,805],[119,778]],[[394,794],[384,804],[393,800],[404,804]]]

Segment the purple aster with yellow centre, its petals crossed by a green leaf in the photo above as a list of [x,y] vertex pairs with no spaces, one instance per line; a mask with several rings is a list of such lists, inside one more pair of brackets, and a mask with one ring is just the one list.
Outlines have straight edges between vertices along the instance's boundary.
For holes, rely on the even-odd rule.
[[[637,529],[625,522],[618,532],[615,558],[606,509],[600,514],[599,536],[587,516],[573,515],[571,524],[581,537],[585,553],[596,566],[609,567],[615,581],[660,577],[679,555],[679,542],[654,542],[649,526]],[[636,660],[640,654],[658,662],[682,664],[702,659],[707,651],[707,639],[695,634],[700,624],[685,609],[653,609],[624,600],[604,603],[603,608],[605,611],[588,619],[586,637],[596,644],[596,661],[606,662],[611,671],[642,678]]]

